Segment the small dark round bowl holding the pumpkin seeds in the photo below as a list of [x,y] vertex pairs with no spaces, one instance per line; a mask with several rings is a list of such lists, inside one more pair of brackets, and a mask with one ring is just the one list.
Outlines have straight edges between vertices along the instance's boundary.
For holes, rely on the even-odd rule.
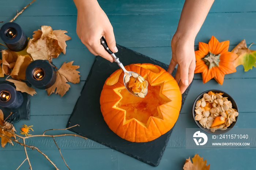
[[[195,101],[194,101],[194,103],[193,103],[193,107],[192,107],[192,116],[193,116],[193,119],[195,120],[196,125],[197,125],[200,129],[202,129],[204,132],[207,132],[207,133],[209,133],[209,134],[224,134],[224,133],[226,133],[227,131],[229,131],[231,128],[234,127],[234,125],[235,125],[236,122],[237,122],[237,118],[238,118],[239,115],[236,117],[236,121],[234,121],[229,127],[227,127],[226,130],[224,130],[224,131],[222,131],[222,130],[216,130],[215,132],[211,132],[211,131],[208,130],[207,128],[204,128],[204,127],[199,123],[199,121],[197,121],[197,120],[195,119],[195,115],[196,115],[196,113],[195,113],[196,101],[198,101],[200,98],[203,98],[203,94],[204,94],[204,93],[208,93],[208,92],[210,92],[210,91],[212,91],[212,92],[214,92],[214,93],[223,93],[222,96],[223,96],[223,97],[227,97],[227,100],[231,101],[231,103],[232,103],[232,108],[233,108],[233,109],[237,109],[237,112],[238,112],[237,104],[236,104],[236,102],[234,101],[234,99],[233,99],[229,94],[227,94],[226,92],[223,92],[223,91],[221,91],[221,90],[207,90],[207,91],[205,91],[205,92],[199,94],[199,96],[196,97],[196,99],[195,99]],[[239,112],[238,112],[238,113],[239,113]]]

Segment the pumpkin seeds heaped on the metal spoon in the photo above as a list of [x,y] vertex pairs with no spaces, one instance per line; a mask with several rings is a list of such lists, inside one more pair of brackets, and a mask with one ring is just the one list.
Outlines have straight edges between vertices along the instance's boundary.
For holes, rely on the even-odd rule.
[[[134,92],[133,93],[136,95],[136,96],[139,96],[139,97],[142,97],[144,98],[145,95],[147,94],[147,86],[148,86],[148,82],[142,77],[140,76],[139,74],[137,73],[132,73],[132,77],[135,78],[135,81],[138,80],[139,83],[139,87],[141,88],[140,90],[138,90],[139,92]],[[124,82],[125,83],[128,83],[130,81],[130,77],[127,75],[124,77]],[[137,88],[138,89],[138,88]]]

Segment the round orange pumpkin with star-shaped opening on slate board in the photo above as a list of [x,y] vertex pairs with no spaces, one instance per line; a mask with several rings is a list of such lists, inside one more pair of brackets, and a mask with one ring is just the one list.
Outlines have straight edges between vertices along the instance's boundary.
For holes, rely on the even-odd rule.
[[100,97],[101,112],[109,128],[131,142],[148,142],[168,132],[181,108],[181,92],[174,78],[162,67],[144,63],[125,66],[148,81],[145,98],[130,94],[124,73],[116,70],[106,80]]

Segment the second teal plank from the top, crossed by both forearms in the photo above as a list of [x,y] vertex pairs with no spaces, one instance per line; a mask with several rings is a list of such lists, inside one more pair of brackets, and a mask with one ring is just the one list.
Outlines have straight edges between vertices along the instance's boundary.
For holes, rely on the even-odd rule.
[[[256,28],[250,22],[251,18],[255,17],[256,12],[222,13],[221,15],[210,13],[196,37],[195,45],[198,45],[199,41],[208,42],[212,35],[220,42],[230,40],[230,45],[237,45],[242,39],[246,39],[246,42],[250,44],[256,39],[254,34]],[[230,18],[236,18],[236,21]],[[179,14],[111,15],[109,19],[114,28],[116,42],[122,46],[166,47],[170,46],[170,40],[176,31]],[[28,21],[31,20],[33,20],[33,25],[28,25]],[[37,16],[36,18],[20,16],[16,23],[20,24],[26,35],[30,37],[33,31],[39,29],[41,25],[52,26],[55,30],[67,30],[67,35],[72,38],[67,41],[68,48],[84,48],[76,35],[76,16]]]

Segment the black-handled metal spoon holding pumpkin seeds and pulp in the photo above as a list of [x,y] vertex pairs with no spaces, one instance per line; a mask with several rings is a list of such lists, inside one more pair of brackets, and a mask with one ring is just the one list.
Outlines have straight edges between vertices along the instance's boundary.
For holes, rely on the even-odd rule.
[[124,71],[124,86],[133,96],[144,98],[148,92],[148,82],[136,72],[127,71],[119,58],[109,49],[106,39],[102,36],[101,45],[113,57],[114,62]]

